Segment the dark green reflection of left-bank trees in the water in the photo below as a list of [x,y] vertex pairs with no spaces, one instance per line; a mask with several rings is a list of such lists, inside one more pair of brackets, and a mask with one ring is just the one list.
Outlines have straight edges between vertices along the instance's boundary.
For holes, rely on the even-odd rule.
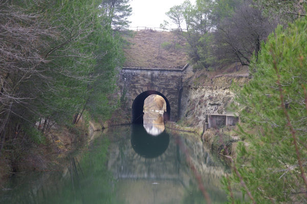
[[124,203],[117,199],[113,175],[107,170],[108,141],[100,137],[80,161],[72,157],[67,169],[33,172],[11,181],[0,203]]

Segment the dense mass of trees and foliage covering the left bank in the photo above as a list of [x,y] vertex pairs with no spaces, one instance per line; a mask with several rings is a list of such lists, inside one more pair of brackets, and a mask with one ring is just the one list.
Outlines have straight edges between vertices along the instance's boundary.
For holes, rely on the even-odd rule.
[[53,128],[74,130],[84,110],[109,118],[118,104],[111,98],[115,67],[124,60],[123,40],[112,26],[128,24],[126,3],[0,1],[2,161],[15,158],[19,146],[25,151],[57,141]]

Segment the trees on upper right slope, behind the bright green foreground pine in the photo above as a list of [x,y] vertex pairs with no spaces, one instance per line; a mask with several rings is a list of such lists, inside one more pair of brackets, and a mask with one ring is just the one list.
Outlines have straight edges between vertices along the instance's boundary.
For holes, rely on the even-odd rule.
[[[177,25],[177,35],[194,69],[216,69],[221,64],[249,65],[253,53],[278,24],[287,25],[305,14],[306,1],[186,0],[166,13]],[[168,21],[161,24],[167,28]]]

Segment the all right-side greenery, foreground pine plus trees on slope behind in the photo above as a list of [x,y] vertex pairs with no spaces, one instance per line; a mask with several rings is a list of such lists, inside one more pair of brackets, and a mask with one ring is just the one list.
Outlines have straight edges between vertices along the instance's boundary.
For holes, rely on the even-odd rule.
[[[230,203],[307,202],[305,10],[306,1],[226,0],[186,1],[167,13],[196,67],[250,67],[251,81],[234,89],[244,142],[238,142],[236,158],[226,156],[233,169],[224,179]],[[207,30],[199,29],[200,22]],[[213,143],[225,146],[228,136],[219,136]],[[233,196],[237,189],[246,199]]]

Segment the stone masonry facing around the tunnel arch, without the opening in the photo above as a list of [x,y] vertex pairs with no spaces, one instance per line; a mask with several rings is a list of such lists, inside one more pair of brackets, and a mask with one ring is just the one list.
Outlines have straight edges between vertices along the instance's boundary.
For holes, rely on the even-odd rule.
[[121,94],[127,99],[128,107],[136,97],[148,90],[161,93],[170,104],[170,119],[177,121],[180,111],[180,94],[183,87],[182,78],[186,73],[182,70],[167,69],[122,69],[119,74],[118,85]]

